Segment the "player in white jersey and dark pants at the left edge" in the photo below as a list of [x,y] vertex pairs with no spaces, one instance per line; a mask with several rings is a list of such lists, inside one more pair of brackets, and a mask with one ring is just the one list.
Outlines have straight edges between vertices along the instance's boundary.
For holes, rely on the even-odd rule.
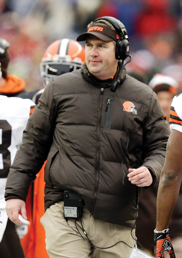
[[[1,76],[1,72],[0,72]],[[30,99],[0,95],[0,254],[1,258],[25,258],[16,225],[5,211],[5,185],[9,168],[22,143],[22,134],[35,104]],[[24,226],[28,221],[20,218]],[[26,230],[26,229],[25,229]]]

